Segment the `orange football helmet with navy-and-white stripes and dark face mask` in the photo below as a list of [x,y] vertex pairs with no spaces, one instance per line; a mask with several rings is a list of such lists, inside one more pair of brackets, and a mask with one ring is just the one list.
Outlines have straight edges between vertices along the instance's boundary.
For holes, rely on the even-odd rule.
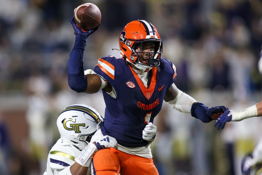
[[[138,53],[149,53],[149,52],[136,52],[136,48],[141,46],[143,42],[154,42],[154,56],[149,58],[149,65],[140,63],[140,56]],[[144,66],[156,66],[159,69],[159,58],[162,53],[162,39],[157,32],[157,29],[150,22],[145,20],[134,20],[125,25],[124,29],[119,35],[119,48],[121,55],[128,62],[134,65],[140,64]],[[149,54],[152,54],[150,52]]]

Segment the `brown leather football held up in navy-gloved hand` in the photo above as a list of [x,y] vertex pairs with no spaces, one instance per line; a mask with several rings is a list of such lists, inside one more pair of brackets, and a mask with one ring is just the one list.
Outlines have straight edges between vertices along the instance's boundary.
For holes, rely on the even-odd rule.
[[89,30],[100,24],[101,12],[95,4],[84,3],[75,8],[74,18],[79,28]]

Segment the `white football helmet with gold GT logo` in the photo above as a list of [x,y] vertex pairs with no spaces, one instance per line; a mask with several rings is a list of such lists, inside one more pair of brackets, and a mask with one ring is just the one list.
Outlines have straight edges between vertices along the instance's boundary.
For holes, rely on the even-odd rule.
[[65,108],[56,123],[62,140],[82,150],[102,126],[102,122],[103,118],[94,108],[75,104]]

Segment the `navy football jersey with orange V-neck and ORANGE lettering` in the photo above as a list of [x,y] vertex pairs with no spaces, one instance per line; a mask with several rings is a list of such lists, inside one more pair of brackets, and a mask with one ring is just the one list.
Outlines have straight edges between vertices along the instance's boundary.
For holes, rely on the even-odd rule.
[[[166,90],[176,79],[175,66],[165,58],[160,59],[160,72],[150,71],[148,87],[123,58],[105,56],[98,60],[94,71],[105,78],[116,91],[116,99],[103,91],[106,104],[103,135],[116,138],[126,147],[146,146],[142,131],[154,121],[162,107]],[[150,80],[151,79],[151,80]]]

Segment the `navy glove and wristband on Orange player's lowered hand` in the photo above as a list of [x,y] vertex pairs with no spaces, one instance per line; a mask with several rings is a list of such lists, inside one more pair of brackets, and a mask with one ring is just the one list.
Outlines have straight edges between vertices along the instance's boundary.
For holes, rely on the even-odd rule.
[[191,115],[204,123],[217,119],[228,108],[226,106],[215,106],[208,108],[203,103],[196,102],[191,107]]

